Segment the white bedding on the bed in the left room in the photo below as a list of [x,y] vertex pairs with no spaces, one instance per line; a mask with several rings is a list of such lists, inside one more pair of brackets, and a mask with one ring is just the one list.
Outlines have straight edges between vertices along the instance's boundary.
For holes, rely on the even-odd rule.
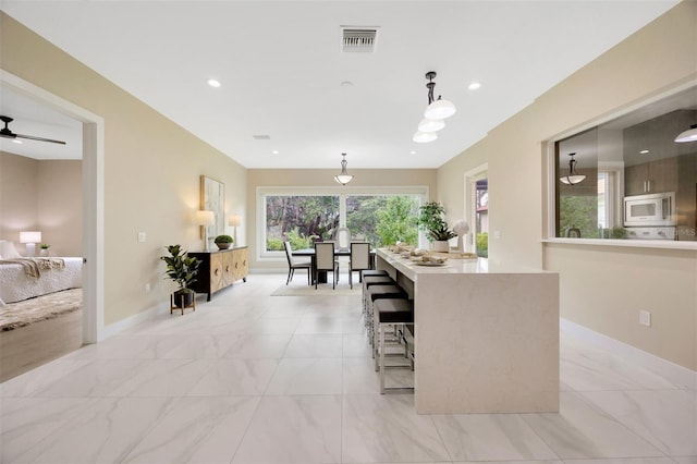
[[41,276],[33,279],[26,276],[19,264],[0,264],[0,306],[47,293],[83,286],[83,258],[61,258],[63,269],[41,269]]

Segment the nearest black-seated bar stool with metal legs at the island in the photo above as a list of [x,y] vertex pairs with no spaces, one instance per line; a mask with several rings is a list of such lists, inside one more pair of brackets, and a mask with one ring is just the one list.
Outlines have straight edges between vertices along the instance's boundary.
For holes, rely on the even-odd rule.
[[[375,301],[374,304],[375,310],[375,323],[376,334],[375,334],[375,347],[374,354],[379,353],[379,356],[376,356],[376,370],[380,370],[380,394],[384,393],[403,393],[407,391],[414,391],[413,387],[392,387],[387,388],[384,386],[384,373],[388,369],[404,369],[412,368],[411,359],[408,365],[393,365],[388,366],[386,364],[386,357],[388,354],[386,353],[386,328],[389,326],[396,325],[413,325],[414,323],[414,301],[413,300],[404,300],[404,298],[379,298]],[[409,358],[408,346],[406,341],[404,343],[404,357]],[[400,355],[401,356],[401,355]]]

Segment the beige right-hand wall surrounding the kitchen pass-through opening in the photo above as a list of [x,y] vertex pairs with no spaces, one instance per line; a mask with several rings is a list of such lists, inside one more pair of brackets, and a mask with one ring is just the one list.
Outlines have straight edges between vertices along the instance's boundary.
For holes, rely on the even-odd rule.
[[[697,369],[697,252],[543,245],[545,142],[697,78],[697,2],[683,2],[583,68],[438,170],[462,210],[464,172],[488,162],[489,257],[559,271],[561,315]],[[638,325],[650,310],[651,328]]]

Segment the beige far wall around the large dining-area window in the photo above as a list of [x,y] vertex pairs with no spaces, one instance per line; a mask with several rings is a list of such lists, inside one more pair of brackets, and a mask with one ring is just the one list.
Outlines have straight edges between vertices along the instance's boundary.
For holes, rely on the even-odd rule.
[[[264,224],[258,223],[257,218],[257,187],[329,187],[338,193],[350,192],[355,187],[386,187],[386,186],[426,186],[432,197],[436,192],[436,170],[435,169],[396,169],[396,170],[353,170],[348,171],[355,175],[345,187],[334,182],[338,170],[330,169],[250,169],[247,171],[247,210],[243,228],[245,229],[246,242],[249,245],[249,264],[255,269],[286,269],[285,257],[277,261],[258,259],[259,247],[257,246],[256,230]],[[248,218],[248,219],[247,219]]]

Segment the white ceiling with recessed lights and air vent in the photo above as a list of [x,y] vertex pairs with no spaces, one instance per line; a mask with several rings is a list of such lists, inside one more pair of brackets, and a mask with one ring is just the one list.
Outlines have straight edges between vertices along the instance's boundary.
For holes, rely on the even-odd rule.
[[[246,168],[339,168],[346,152],[351,171],[440,167],[676,3],[3,0],[1,5]],[[377,26],[376,51],[342,53],[342,25]],[[436,95],[453,101],[457,113],[438,141],[416,144],[412,135],[427,103],[428,71],[438,73]],[[207,86],[209,77],[222,87]],[[482,87],[468,90],[473,81]],[[39,111],[27,107],[22,113],[24,103],[5,101],[4,95],[0,110],[15,118],[14,132],[52,136]],[[23,129],[21,114],[45,126]]]

